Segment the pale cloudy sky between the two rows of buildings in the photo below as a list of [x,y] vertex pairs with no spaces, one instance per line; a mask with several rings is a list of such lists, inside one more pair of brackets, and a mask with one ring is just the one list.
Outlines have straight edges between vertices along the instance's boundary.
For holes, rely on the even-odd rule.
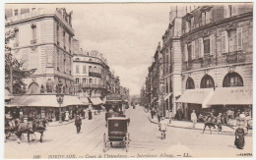
[[170,4],[80,4],[73,10],[83,50],[98,50],[130,94],[140,94],[148,67],[169,23]]

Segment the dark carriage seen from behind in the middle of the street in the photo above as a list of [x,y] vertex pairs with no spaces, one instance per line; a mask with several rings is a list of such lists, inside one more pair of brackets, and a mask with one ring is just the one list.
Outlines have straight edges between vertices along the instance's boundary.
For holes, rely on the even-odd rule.
[[107,118],[107,133],[103,134],[103,151],[106,151],[107,144],[113,146],[113,142],[119,142],[125,146],[128,151],[130,134],[128,133],[128,126],[130,119],[125,117]]

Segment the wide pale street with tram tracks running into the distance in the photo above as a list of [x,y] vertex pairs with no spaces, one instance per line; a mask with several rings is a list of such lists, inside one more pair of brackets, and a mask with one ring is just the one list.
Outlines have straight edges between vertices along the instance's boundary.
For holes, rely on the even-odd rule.
[[[95,115],[94,115],[95,116]],[[252,136],[245,136],[245,148],[239,150],[234,147],[234,135],[218,133],[202,133],[201,131],[167,128],[166,139],[160,139],[159,127],[152,124],[148,113],[143,107],[136,109],[130,107],[126,110],[126,116],[131,119],[128,132],[131,135],[131,143],[128,152],[114,143],[113,147],[107,147],[102,152],[103,133],[106,133],[104,113],[97,115],[94,120],[83,120],[81,133],[76,133],[74,123],[48,127],[44,133],[44,141],[36,140],[30,145],[27,135],[22,143],[18,144],[16,137],[10,137],[5,143],[6,158],[94,158],[100,154],[105,158],[128,155],[129,157],[236,157],[240,153],[252,153]],[[250,142],[249,142],[250,141]]]

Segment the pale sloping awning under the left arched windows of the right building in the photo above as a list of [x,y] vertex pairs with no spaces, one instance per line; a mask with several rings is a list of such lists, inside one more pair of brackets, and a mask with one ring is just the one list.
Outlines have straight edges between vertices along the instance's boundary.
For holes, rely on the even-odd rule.
[[205,108],[213,92],[214,88],[186,89],[176,102],[202,104]]

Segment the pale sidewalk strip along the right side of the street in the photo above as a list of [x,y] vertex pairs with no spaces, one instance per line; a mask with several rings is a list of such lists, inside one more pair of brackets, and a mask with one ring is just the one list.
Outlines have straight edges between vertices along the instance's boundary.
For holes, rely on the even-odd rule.
[[[157,118],[151,119],[151,117],[149,116],[149,120],[151,121],[151,123],[159,124]],[[167,121],[168,127],[189,129],[189,130],[199,130],[202,132],[203,132],[204,126],[205,126],[203,123],[197,123],[195,128],[192,128],[193,124],[192,124],[192,122],[189,122],[189,121],[171,121],[171,124],[169,124],[169,119],[164,119],[164,121]],[[211,130],[213,133],[219,133],[217,129],[212,128]],[[235,130],[233,130],[229,127],[223,126],[223,133],[225,133],[225,134],[233,135],[234,131]],[[210,133],[208,127],[206,128],[205,133]],[[250,131],[249,133],[247,133],[247,136],[252,136],[252,132]]]

